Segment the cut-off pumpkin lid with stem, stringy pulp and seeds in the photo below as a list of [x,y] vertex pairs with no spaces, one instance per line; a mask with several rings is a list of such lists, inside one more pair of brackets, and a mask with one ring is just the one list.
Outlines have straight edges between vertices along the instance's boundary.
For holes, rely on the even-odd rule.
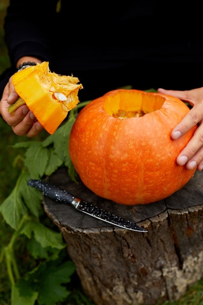
[[78,90],[82,84],[74,76],[61,76],[49,70],[49,62],[44,61],[14,74],[12,82],[20,96],[8,108],[10,114],[26,103],[44,129],[53,134],[68,112],[79,102]]

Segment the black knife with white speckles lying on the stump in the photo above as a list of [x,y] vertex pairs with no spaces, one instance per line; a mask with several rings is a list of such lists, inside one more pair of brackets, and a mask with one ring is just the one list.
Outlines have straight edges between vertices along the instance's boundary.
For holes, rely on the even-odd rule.
[[55,185],[47,183],[43,180],[31,179],[28,181],[27,185],[36,188],[37,190],[41,191],[44,196],[47,196],[52,200],[69,203],[76,210],[108,222],[112,225],[137,232],[148,232],[146,229],[137,226],[135,223],[132,223],[127,219],[114,215],[106,210],[102,210],[87,201],[73,196],[68,191],[58,188]]

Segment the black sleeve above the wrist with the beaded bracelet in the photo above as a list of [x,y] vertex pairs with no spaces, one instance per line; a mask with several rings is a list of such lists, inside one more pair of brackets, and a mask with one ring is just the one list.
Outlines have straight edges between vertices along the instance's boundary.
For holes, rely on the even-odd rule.
[[4,22],[12,66],[22,56],[52,60],[57,0],[10,0]]

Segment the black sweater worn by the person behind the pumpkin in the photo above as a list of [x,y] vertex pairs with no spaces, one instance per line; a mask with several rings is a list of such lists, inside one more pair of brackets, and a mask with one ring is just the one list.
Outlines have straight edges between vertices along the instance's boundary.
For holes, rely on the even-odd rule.
[[61,0],[56,12],[56,4],[10,1],[4,29],[13,67],[22,56],[49,61],[52,71],[80,79],[84,98],[125,85],[181,90],[201,84],[193,83],[194,77],[180,83],[185,65],[177,70],[180,62],[203,62],[198,6],[173,0]]

